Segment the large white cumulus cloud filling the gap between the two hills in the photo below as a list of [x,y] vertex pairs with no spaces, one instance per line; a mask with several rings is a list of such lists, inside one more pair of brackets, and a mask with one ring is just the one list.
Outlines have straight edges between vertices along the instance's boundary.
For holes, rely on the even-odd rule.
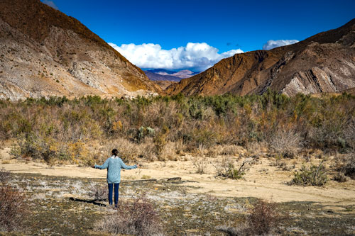
[[226,57],[242,53],[240,49],[218,53],[216,47],[207,43],[187,43],[186,46],[164,50],[158,44],[141,45],[109,43],[121,55],[141,68],[151,69],[192,69],[203,71]]

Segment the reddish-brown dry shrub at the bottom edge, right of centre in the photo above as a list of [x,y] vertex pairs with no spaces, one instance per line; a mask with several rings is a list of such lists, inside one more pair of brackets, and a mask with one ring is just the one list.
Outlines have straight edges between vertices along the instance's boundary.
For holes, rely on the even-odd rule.
[[281,220],[283,220],[283,217],[275,203],[258,200],[247,217],[248,231],[252,235],[265,235],[278,227]]

